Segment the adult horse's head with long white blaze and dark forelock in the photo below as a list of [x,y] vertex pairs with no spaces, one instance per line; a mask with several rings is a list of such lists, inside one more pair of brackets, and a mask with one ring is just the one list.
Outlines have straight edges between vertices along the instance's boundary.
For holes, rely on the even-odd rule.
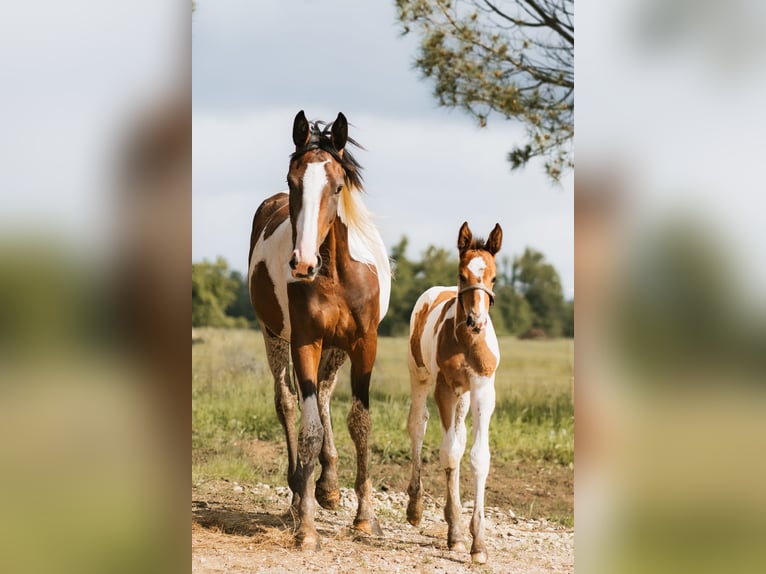
[[287,184],[290,188],[290,222],[293,228],[292,276],[313,281],[322,266],[322,245],[338,213],[344,188],[361,187],[360,166],[345,151],[348,137],[346,116],[309,123],[303,110],[293,122],[295,152],[290,157]]

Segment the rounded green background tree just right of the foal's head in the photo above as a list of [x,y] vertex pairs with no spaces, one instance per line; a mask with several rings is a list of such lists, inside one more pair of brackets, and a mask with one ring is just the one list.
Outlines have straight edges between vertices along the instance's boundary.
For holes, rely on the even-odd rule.
[[539,251],[527,247],[513,260],[511,284],[529,304],[532,327],[543,329],[550,337],[562,335],[564,293],[556,269]]

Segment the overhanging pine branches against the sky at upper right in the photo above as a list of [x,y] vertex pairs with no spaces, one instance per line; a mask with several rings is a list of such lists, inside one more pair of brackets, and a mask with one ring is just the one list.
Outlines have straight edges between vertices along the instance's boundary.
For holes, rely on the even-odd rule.
[[574,0],[397,0],[403,32],[422,37],[415,65],[434,96],[485,126],[524,124],[511,169],[542,158],[559,181],[574,167]]

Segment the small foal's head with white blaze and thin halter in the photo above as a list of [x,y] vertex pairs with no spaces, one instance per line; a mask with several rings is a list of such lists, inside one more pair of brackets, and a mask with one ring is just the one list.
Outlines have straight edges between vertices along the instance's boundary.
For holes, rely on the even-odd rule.
[[486,242],[474,239],[468,222],[460,227],[457,238],[460,252],[458,300],[465,312],[465,324],[474,333],[480,333],[487,326],[489,307],[495,299],[495,255],[500,251],[502,242],[503,230],[498,223]]

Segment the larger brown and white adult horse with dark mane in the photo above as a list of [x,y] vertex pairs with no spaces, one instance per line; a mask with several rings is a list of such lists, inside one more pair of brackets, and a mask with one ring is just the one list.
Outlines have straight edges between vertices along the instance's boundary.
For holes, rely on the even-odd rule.
[[[369,386],[378,323],[388,309],[391,270],[370,213],[361,201],[361,167],[346,150],[343,114],[330,125],[295,116],[288,193],[266,199],[253,219],[250,300],[261,323],[274,375],[277,417],[287,437],[288,483],[300,525],[299,546],[319,548],[314,496],[324,508],[340,500],[330,419],[336,373],[351,359],[353,401],[348,429],[356,448],[354,527],[381,534],[368,477]],[[292,355],[296,390],[288,372]],[[314,488],[317,456],[322,473]]]

